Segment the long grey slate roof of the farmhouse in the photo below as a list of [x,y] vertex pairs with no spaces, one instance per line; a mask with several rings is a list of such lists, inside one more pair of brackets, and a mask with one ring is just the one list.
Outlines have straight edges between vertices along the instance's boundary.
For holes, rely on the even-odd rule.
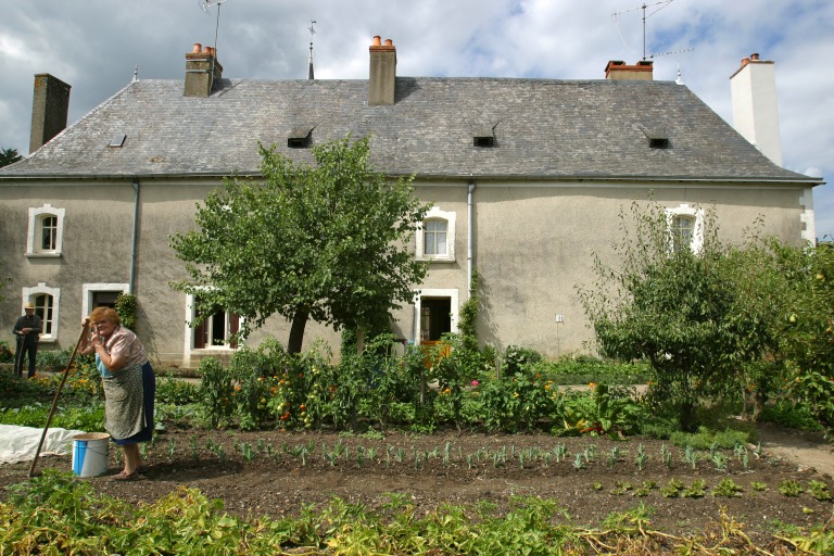
[[[371,135],[372,164],[426,178],[695,179],[814,184],[763,156],[671,81],[397,77],[392,106],[367,80],[220,79],[208,98],[181,80],[138,80],[23,161],[9,178],[257,174],[257,141],[287,147]],[[473,135],[494,129],[493,147]],[[122,148],[108,147],[125,134]],[[653,149],[649,138],[669,139]]]

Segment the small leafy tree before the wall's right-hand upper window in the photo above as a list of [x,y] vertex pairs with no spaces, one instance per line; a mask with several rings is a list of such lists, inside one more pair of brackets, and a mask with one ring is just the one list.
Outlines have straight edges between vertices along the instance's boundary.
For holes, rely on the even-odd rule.
[[675,248],[665,210],[632,204],[621,214],[617,265],[595,257],[596,281],[579,288],[599,351],[645,358],[655,371],[655,400],[678,412],[681,426],[696,426],[698,403],[726,388],[725,354],[735,338],[728,327],[734,291],[711,214],[696,253]]

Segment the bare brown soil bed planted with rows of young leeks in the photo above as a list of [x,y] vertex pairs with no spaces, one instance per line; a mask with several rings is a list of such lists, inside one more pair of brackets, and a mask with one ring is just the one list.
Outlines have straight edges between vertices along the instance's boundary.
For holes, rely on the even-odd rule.
[[[109,476],[84,480],[101,493],[136,503],[155,502],[178,486],[195,488],[210,498],[223,500],[226,510],[241,517],[298,515],[301,508],[326,504],[333,496],[381,508],[389,502],[388,493],[399,493],[422,515],[444,503],[491,502],[506,509],[510,497],[520,495],[556,500],[573,523],[592,527],[599,526],[610,513],[628,511],[642,503],[654,508],[653,529],[684,534],[713,528],[723,507],[762,542],[770,539],[776,521],[809,527],[825,523],[833,515],[831,501],[818,501],[808,492],[786,496],[779,489],[785,480],[804,488],[817,480],[824,481],[829,492],[834,491],[831,446],[819,434],[772,425],[761,427],[758,457],[756,446],[748,446],[747,467],[732,450],[723,451],[729,460],[725,470],[716,468],[709,453],[700,453],[693,469],[684,459],[684,450],[646,438],[612,441],[456,432],[371,437],[378,435],[169,430],[149,446],[150,466],[140,480],[116,482]],[[559,444],[564,444],[566,456],[556,462],[554,448]],[[672,454],[668,466],[661,459],[664,444]],[[219,455],[218,445],[225,457]],[[331,460],[339,445],[344,452]],[[641,445],[647,455],[642,470],[636,463]],[[244,455],[248,446],[250,457]],[[308,450],[304,459],[302,446]],[[609,454],[615,447],[620,455],[611,465]],[[506,463],[500,460],[502,453],[506,453]],[[591,460],[585,460],[585,454],[592,453]],[[0,466],[0,486],[26,480],[28,467]],[[42,458],[38,465],[39,469],[71,467],[70,456]],[[121,469],[112,448],[110,467],[112,473]],[[712,494],[723,479],[742,488],[737,496]],[[667,497],[661,489],[670,480],[685,486],[704,480],[706,495]],[[639,492],[649,484],[646,481],[654,486]],[[763,483],[766,490],[755,489],[754,482]],[[0,500],[3,497],[0,490]]]

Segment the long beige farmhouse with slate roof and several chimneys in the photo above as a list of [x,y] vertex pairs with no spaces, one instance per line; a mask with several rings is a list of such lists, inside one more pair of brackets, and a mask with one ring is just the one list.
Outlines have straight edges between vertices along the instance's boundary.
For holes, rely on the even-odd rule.
[[[477,269],[483,343],[586,352],[576,287],[592,277],[592,252],[610,255],[633,200],[665,206],[693,248],[705,207],[730,241],[759,216],[784,241],[814,238],[822,181],[780,166],[774,65],[758,55],[731,79],[741,132],[685,85],[654,80],[646,61],[609,62],[604,79],[404,77],[392,41],[375,37],[368,79],[314,79],[311,66],[307,79],[256,80],[224,77],[212,48],[185,58],[184,79],[134,80],[68,127],[70,86],[36,76],[30,154],[0,169],[11,277],[0,339],[33,301],[41,349],[66,349],[81,316],[124,291],[154,363],[231,353],[236,315],[189,326],[193,299],[169,287],[186,273],[168,238],[193,227],[224,176],[258,175],[258,141],[312,161],[311,146],[370,136],[376,168],[416,176],[433,207],[413,248],[430,270],[394,315],[404,342],[455,331]],[[288,330],[274,316],[248,342],[286,342]],[[317,338],[338,351],[338,333],[309,323],[305,344]]]

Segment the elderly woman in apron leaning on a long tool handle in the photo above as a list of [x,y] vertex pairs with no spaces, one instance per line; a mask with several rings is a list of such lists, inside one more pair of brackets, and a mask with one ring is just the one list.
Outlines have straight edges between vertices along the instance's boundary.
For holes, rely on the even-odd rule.
[[139,442],[153,434],[153,368],[142,343],[122,326],[114,309],[96,308],[83,326],[87,333],[81,334],[78,353],[96,354],[104,387],[104,429],[125,454],[125,468],[113,479],[134,481],[142,466]]

